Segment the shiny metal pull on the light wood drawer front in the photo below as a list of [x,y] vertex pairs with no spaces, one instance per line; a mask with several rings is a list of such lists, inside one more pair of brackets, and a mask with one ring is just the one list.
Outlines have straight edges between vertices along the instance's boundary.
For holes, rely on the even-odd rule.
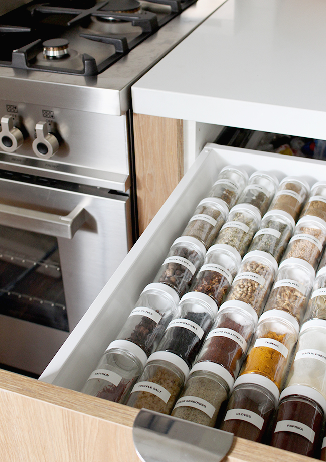
[[141,409],[133,424],[133,442],[143,462],[220,462],[233,434]]

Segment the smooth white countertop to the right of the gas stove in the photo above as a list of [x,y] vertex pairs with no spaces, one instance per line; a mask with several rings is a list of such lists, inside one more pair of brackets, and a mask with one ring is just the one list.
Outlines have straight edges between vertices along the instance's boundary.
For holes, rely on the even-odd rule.
[[326,139],[326,2],[227,0],[133,85],[132,104]]

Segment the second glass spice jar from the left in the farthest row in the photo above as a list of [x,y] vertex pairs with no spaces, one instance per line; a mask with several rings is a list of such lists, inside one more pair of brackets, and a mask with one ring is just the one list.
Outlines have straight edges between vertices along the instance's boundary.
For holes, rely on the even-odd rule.
[[238,204],[251,204],[259,210],[262,217],[267,212],[277,187],[278,180],[275,175],[257,170],[250,175],[248,184],[243,190]]

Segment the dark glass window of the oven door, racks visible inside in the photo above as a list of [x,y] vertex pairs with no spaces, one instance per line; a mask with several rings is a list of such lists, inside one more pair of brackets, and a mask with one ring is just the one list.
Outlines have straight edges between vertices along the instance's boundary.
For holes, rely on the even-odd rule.
[[0,314],[69,331],[55,237],[0,226]]

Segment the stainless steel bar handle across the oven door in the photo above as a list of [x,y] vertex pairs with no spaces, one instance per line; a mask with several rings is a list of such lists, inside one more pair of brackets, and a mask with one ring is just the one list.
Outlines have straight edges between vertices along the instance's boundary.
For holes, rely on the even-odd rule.
[[72,239],[85,221],[86,214],[82,205],[77,205],[68,215],[56,215],[0,204],[0,225],[48,236]]

